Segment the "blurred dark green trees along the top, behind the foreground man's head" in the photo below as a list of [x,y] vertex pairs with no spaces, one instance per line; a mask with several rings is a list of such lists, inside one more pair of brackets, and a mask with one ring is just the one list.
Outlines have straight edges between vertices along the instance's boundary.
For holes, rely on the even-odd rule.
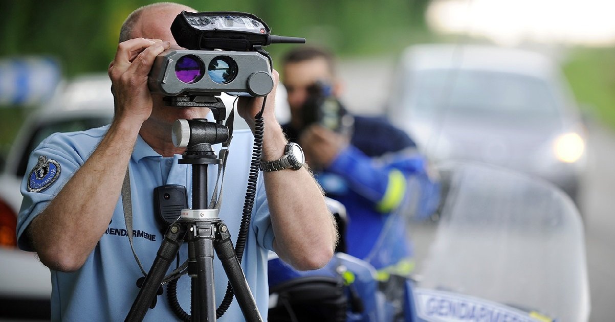
[[[49,54],[63,62],[63,71],[104,71],[117,45],[124,18],[151,0],[36,1],[5,0],[0,19],[0,55]],[[195,4],[198,10],[251,12],[274,34],[304,36],[341,54],[383,53],[411,43],[407,34],[425,29],[423,12],[429,0],[227,0]],[[272,46],[275,56],[284,46]]]

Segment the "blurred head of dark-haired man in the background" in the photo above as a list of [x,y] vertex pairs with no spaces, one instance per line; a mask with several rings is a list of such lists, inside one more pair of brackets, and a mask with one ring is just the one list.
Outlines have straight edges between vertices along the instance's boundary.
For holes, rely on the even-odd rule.
[[317,81],[330,84],[333,95],[341,94],[335,76],[333,54],[316,47],[296,47],[282,58],[282,79],[288,92],[291,123],[301,127],[301,107],[308,99],[308,87]]

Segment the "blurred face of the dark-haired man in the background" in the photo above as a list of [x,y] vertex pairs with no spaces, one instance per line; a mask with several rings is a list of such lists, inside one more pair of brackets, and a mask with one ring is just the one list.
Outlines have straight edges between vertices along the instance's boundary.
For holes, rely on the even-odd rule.
[[337,84],[328,68],[327,60],[314,58],[298,63],[287,63],[284,66],[284,86],[288,92],[291,123],[293,127],[301,127],[301,107],[308,98],[308,87],[316,81],[333,84],[333,94],[337,95]]

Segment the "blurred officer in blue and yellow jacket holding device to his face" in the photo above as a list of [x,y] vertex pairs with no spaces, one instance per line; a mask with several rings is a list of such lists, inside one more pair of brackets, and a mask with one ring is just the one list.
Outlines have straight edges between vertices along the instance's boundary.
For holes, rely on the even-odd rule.
[[[380,280],[391,273],[408,276],[412,249],[400,206],[409,197],[434,192],[437,181],[427,177],[426,159],[387,120],[354,116],[339,104],[342,86],[327,50],[297,47],[288,52],[282,79],[291,115],[285,133],[303,147],[327,196],[346,206],[347,253],[374,265]],[[338,110],[331,111],[335,102]],[[335,115],[337,122],[326,120]],[[412,178],[422,178],[421,189],[408,185]]]

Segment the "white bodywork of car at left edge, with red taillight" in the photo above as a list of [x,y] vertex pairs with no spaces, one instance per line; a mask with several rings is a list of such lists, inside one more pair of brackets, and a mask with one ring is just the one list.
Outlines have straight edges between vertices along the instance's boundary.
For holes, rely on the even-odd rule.
[[50,318],[49,269],[36,254],[17,248],[15,224],[22,203],[19,187],[30,152],[54,132],[108,124],[113,117],[111,81],[106,75],[82,76],[60,85],[57,94],[28,117],[0,175],[0,320]]

